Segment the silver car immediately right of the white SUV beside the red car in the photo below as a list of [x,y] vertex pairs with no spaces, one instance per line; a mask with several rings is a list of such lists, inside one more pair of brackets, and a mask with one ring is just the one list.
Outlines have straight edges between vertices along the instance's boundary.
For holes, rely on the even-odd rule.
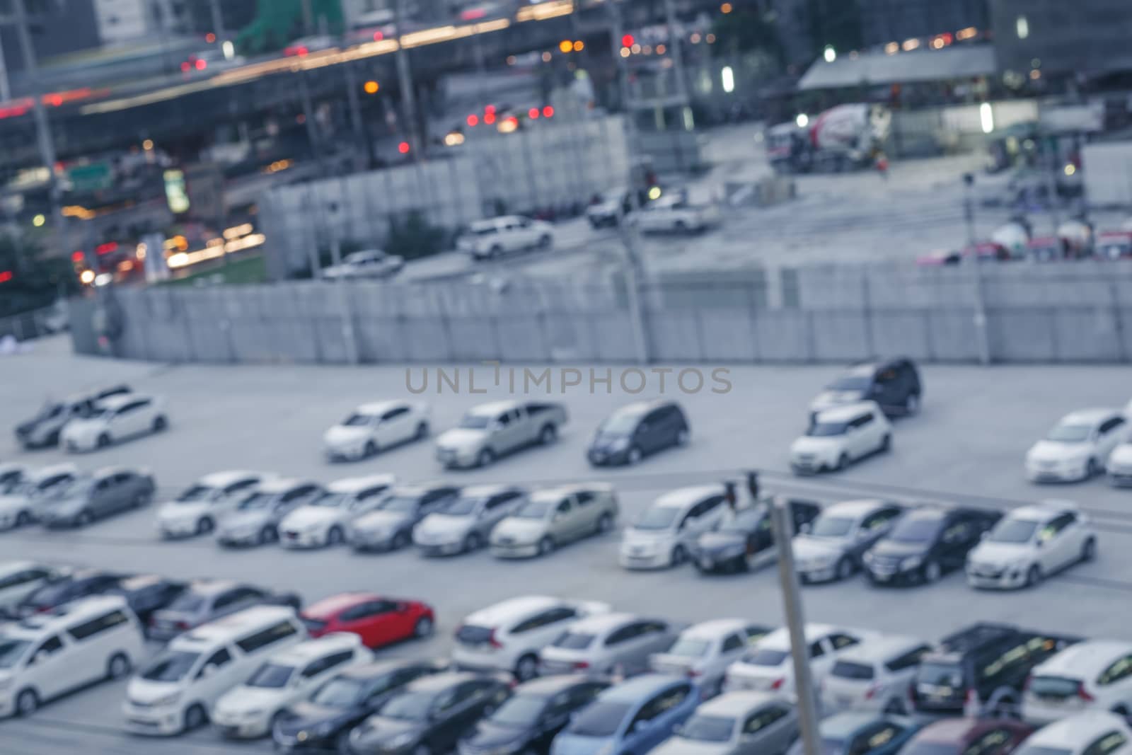
[[539,674],[642,674],[649,670],[649,657],[668,650],[681,628],[633,614],[591,616],[543,649]]

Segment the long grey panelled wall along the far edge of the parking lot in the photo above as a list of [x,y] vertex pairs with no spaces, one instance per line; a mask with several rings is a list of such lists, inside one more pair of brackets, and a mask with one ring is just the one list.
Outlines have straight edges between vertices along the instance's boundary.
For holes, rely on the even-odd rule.
[[[979,268],[827,266],[789,275],[700,273],[643,286],[660,362],[1132,361],[1132,263]],[[778,291],[789,286],[790,291]],[[624,283],[526,281],[342,286],[366,363],[625,362],[635,354]],[[334,284],[122,290],[120,357],[341,363]],[[774,302],[774,303],[772,303]],[[76,334],[85,332],[79,325]],[[76,335],[76,350],[92,352]]]

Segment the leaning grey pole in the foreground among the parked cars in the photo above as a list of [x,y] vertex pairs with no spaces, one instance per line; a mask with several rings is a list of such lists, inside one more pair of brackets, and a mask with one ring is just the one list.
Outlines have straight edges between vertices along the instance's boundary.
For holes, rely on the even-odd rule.
[[809,645],[806,643],[806,619],[803,616],[798,573],[794,568],[794,526],[788,516],[789,511],[790,504],[786,498],[777,496],[770,506],[771,526],[778,546],[779,583],[782,587],[786,625],[790,632],[790,657],[794,660],[803,753],[818,755],[822,748],[817,730],[817,698],[814,696],[814,680],[809,675]]

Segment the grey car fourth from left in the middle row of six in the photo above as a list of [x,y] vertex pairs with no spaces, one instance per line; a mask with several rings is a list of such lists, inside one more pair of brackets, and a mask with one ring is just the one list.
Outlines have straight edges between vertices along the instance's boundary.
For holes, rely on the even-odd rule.
[[350,523],[346,540],[357,551],[408,548],[417,523],[444,511],[458,496],[460,488],[446,482],[394,486],[374,511]]

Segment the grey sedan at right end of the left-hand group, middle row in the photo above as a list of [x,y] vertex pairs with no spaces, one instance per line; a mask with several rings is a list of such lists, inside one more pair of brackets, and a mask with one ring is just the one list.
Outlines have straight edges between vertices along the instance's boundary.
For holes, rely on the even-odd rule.
[[41,501],[37,518],[49,527],[82,527],[95,520],[142,508],[157,486],[147,471],[106,466],[75,478],[58,496]]

